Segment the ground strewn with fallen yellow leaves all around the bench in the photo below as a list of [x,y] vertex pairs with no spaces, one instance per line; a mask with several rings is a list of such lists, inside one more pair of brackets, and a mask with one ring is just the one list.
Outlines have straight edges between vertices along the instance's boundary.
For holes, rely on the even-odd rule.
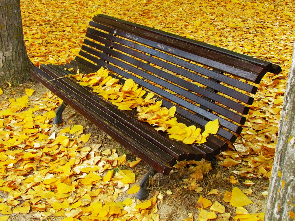
[[157,192],[144,202],[134,198],[145,172],[142,162],[127,153],[126,159],[124,151],[116,150],[87,123],[71,123],[71,113],[66,113],[68,125],[52,127],[53,110],[60,100],[50,92],[35,88],[31,95],[24,88],[18,93],[10,89],[16,93],[12,96],[4,90],[0,97],[0,220],[226,221],[230,216],[263,220],[265,207],[260,204],[266,199],[265,181],[271,174],[291,65],[294,12],[222,0],[22,0],[21,7],[27,52],[36,65],[71,61],[80,50],[88,22],[101,10],[269,60],[283,71],[263,78],[241,137],[212,163],[216,165],[209,174],[211,165],[201,161],[173,171],[168,178],[156,177]]

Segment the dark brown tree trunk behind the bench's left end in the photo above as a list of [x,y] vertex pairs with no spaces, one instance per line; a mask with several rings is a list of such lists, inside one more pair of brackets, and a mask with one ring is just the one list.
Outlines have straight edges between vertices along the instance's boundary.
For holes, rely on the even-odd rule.
[[22,84],[33,67],[27,55],[20,0],[0,0],[0,86]]

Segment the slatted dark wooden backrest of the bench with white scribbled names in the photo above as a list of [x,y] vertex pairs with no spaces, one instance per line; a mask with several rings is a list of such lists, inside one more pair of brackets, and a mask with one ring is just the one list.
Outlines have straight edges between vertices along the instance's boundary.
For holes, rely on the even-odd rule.
[[218,136],[231,142],[263,75],[278,65],[192,39],[99,15],[89,23],[75,62],[98,65],[163,98],[163,106],[204,128],[219,118]]

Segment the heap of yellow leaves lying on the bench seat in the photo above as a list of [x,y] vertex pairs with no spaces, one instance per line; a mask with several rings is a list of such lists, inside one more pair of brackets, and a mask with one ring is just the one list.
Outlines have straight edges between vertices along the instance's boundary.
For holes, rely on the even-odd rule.
[[[66,69],[72,71],[72,69]],[[93,92],[101,95],[105,100],[109,100],[119,110],[132,110],[136,108],[138,119],[147,122],[155,127],[157,131],[167,132],[169,138],[182,141],[185,144],[202,144],[206,142],[209,134],[216,134],[219,128],[218,118],[209,121],[203,133],[201,128],[196,126],[186,126],[178,123],[175,117],[176,106],[171,108],[162,107],[162,100],[155,101],[153,93],[148,93],[138,87],[132,79],[127,79],[124,85],[119,84],[119,79],[109,74],[107,69],[101,67],[95,73],[66,75],[78,80],[82,86],[93,88]],[[143,96],[145,98],[143,98]]]

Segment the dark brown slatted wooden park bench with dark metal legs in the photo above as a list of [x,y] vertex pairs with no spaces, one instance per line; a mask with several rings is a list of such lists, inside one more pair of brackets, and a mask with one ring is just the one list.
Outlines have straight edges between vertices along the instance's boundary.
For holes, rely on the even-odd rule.
[[[91,88],[70,77],[75,71],[93,73],[106,67],[124,84],[132,78],[162,106],[176,105],[178,122],[203,128],[219,118],[219,130],[204,144],[186,145],[168,138],[153,126],[138,121],[135,110],[119,110]],[[157,171],[168,175],[177,161],[212,159],[227,149],[242,131],[266,72],[281,67],[267,61],[225,50],[186,37],[99,14],[90,21],[79,55],[65,65],[40,65],[32,76],[58,95],[64,103],[53,123],[62,122],[65,106],[96,126],[150,166],[137,198],[147,197],[149,179]]]

